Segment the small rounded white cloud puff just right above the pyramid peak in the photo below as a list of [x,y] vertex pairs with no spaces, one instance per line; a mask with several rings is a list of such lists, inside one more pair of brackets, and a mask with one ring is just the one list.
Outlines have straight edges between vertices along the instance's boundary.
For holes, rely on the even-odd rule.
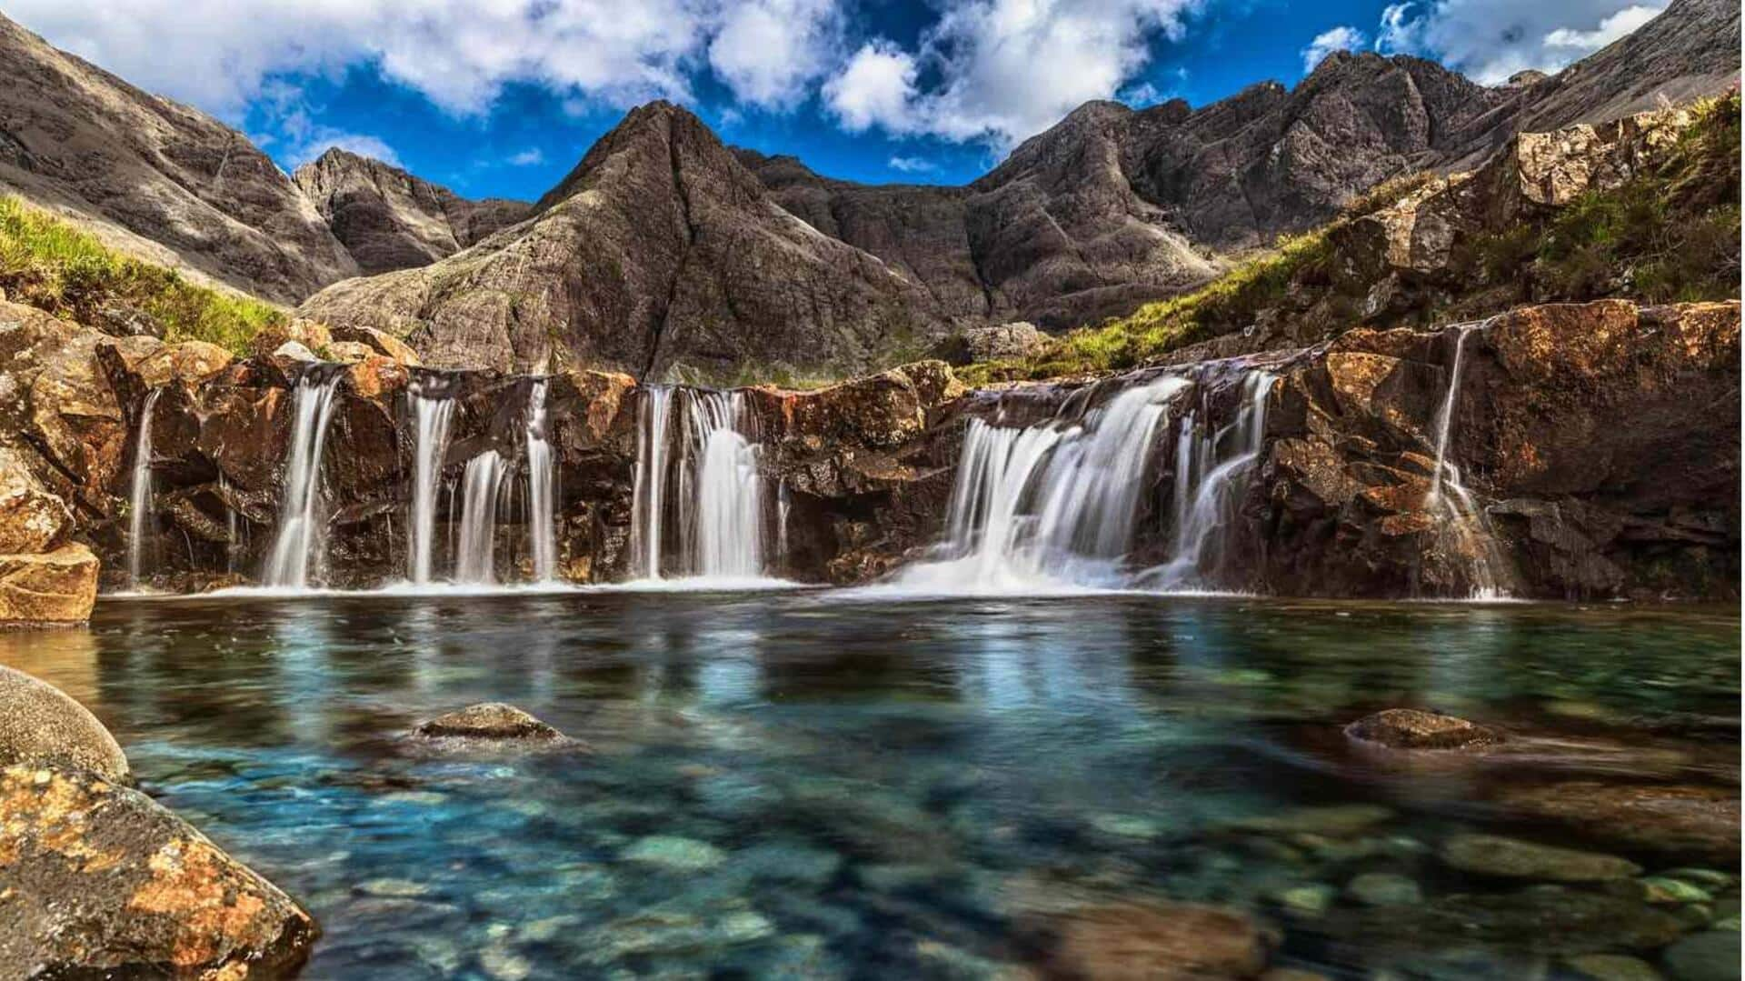
[[834,0],[740,0],[722,14],[708,65],[740,99],[789,108],[839,56],[841,31]]

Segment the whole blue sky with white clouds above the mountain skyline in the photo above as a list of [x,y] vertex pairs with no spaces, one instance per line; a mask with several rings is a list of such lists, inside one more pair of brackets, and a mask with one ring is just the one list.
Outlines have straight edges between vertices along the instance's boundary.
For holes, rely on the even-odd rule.
[[729,143],[860,182],[961,183],[1087,98],[1201,106],[1335,47],[1483,82],[1557,70],[1665,0],[9,0],[7,14],[253,136],[532,199],[672,98]]

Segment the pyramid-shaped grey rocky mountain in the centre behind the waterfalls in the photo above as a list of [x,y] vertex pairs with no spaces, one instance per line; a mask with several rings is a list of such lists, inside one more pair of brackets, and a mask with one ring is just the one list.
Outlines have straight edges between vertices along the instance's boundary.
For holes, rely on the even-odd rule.
[[632,112],[522,225],[426,269],[339,283],[302,312],[407,337],[433,367],[647,379],[866,365],[949,326],[920,283],[778,208],[668,103]]

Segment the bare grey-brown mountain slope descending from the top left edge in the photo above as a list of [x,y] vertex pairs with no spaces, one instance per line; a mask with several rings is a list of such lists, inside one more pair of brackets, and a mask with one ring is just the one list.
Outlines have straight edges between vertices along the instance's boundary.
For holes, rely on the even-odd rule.
[[0,190],[117,248],[295,302],[358,265],[241,133],[0,17]]

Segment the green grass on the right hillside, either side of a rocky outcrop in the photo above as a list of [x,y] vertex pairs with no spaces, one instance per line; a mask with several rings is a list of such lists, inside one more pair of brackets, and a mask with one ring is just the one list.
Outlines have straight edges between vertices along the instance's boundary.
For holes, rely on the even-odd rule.
[[[961,368],[972,384],[1110,372],[1242,330],[1288,293],[1314,297],[1328,332],[1358,321],[1368,283],[1342,281],[1328,234],[1399,201],[1431,175],[1389,182],[1333,223],[1283,239],[1213,283],[1127,318],[1054,339],[1023,361]],[[1588,194],[1557,215],[1480,236],[1454,258],[1461,290],[1422,319],[1482,316],[1522,302],[1632,297],[1646,302],[1740,295],[1740,96],[1705,99],[1677,147],[1647,175]]]

